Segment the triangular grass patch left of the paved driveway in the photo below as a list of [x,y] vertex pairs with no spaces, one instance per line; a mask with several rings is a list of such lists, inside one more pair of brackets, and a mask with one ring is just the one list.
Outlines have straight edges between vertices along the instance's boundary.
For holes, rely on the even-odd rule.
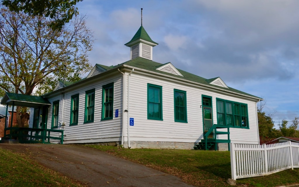
[[0,186],[83,187],[84,185],[35,164],[25,154],[0,149]]

